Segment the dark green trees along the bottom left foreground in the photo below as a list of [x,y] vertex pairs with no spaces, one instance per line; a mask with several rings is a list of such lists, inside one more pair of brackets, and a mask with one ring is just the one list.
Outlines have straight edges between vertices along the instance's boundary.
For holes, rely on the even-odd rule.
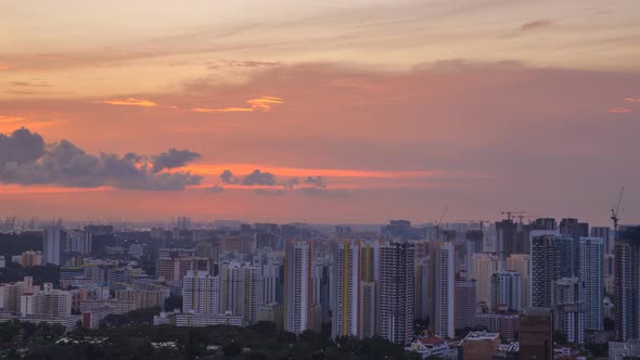
[[[270,322],[248,327],[153,326],[151,311],[108,319],[112,327],[64,334],[61,326],[17,321],[0,323],[0,357],[5,359],[417,359],[383,338],[330,339],[306,331],[299,336]],[[68,343],[57,342],[66,337]],[[164,344],[164,346],[158,344]],[[154,345],[155,344],[155,345]],[[215,345],[216,348],[210,346]],[[26,349],[21,353],[20,349]]]

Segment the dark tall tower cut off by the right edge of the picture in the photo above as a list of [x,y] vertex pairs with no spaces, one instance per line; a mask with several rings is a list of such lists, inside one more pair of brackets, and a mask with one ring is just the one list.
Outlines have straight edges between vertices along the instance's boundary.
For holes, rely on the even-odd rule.
[[618,342],[640,338],[640,226],[620,227],[615,241],[615,332]]

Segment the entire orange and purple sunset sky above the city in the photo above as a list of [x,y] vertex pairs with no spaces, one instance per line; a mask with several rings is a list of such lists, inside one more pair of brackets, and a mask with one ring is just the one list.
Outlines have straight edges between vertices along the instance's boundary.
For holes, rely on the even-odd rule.
[[7,2],[0,216],[640,222],[636,0]]

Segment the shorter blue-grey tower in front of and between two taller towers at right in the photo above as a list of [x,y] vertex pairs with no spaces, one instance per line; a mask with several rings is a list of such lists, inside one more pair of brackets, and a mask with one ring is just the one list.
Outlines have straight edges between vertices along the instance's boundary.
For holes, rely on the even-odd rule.
[[578,278],[562,278],[553,290],[554,327],[569,343],[585,343],[585,285]]

